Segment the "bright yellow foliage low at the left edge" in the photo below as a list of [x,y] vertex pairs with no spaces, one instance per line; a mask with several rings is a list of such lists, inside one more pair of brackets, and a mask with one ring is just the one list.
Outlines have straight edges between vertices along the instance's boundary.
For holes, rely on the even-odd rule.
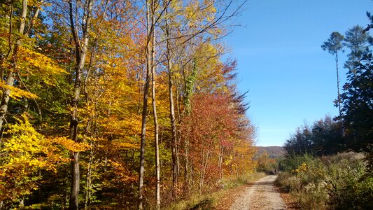
[[[38,189],[36,181],[41,179],[41,170],[57,172],[57,163],[66,162],[59,149],[52,146],[42,134],[36,132],[27,114],[23,120],[10,125],[0,151],[0,200],[17,200]],[[12,189],[12,190],[9,190]]]

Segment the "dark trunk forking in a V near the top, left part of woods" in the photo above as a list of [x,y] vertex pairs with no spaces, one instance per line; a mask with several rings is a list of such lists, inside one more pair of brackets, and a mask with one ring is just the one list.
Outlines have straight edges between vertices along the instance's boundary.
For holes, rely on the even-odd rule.
[[[90,21],[92,15],[93,1],[88,0],[85,5],[85,16],[83,17],[83,42],[78,40],[78,32],[76,31],[75,22],[73,20],[73,3],[69,1],[69,16],[71,24],[71,34],[76,46],[76,75],[73,88],[73,96],[71,99],[71,118],[70,118],[70,139],[78,142],[78,102],[80,99],[81,76],[85,65],[85,57],[87,56],[87,48],[90,34]],[[71,155],[71,193],[69,201],[69,209],[79,209],[79,153],[73,152]]]

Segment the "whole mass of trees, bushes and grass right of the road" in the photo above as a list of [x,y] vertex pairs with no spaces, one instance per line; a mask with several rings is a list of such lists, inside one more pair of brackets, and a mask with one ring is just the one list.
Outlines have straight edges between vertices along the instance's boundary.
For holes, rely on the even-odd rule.
[[[345,36],[332,32],[323,50],[335,55],[339,116],[299,127],[286,141],[277,182],[302,209],[373,209],[373,16]],[[339,94],[338,53],[347,48]]]

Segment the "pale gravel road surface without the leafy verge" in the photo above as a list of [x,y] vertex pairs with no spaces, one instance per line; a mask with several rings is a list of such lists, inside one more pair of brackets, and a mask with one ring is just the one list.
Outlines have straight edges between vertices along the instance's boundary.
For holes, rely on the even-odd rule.
[[274,188],[277,176],[266,176],[244,190],[233,202],[230,210],[286,209],[280,193]]

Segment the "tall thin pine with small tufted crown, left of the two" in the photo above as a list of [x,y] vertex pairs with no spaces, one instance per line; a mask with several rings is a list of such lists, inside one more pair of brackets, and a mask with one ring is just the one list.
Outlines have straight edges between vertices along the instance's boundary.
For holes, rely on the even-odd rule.
[[328,38],[328,41],[325,41],[323,45],[321,45],[321,48],[323,50],[328,51],[330,54],[335,55],[335,66],[337,69],[337,106],[339,110],[339,117],[341,116],[341,99],[339,94],[339,70],[338,70],[338,52],[342,50],[343,44],[342,41],[344,41],[344,36],[342,34],[339,34],[338,32],[332,32],[330,34],[330,38]]

